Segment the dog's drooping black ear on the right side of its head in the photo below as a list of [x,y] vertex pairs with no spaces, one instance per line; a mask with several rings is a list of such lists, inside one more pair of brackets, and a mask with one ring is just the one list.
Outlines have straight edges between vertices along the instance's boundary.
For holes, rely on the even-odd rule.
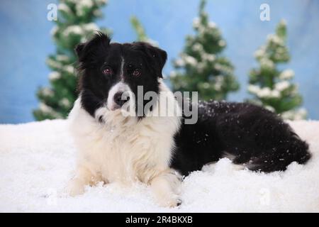
[[135,42],[133,45],[139,50],[142,50],[142,52],[145,52],[148,58],[147,60],[152,64],[152,67],[155,68],[156,76],[162,78],[162,70],[167,61],[167,52],[145,42]]

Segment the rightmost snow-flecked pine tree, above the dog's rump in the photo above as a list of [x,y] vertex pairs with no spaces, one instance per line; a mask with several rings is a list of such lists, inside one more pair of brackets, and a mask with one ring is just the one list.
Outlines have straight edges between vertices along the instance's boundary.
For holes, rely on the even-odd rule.
[[267,37],[254,56],[259,68],[250,71],[248,92],[255,104],[265,106],[267,109],[281,114],[285,119],[297,120],[306,118],[305,109],[298,106],[302,103],[298,87],[291,82],[294,77],[293,70],[279,70],[278,64],[290,60],[289,50],[286,47],[286,23],[280,21],[276,33]]

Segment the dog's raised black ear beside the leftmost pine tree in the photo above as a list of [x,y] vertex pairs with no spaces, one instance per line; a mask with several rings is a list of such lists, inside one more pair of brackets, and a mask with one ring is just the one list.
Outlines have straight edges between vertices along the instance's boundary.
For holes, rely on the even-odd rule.
[[99,31],[91,40],[77,45],[74,51],[77,54],[79,62],[85,62],[90,60],[91,57],[94,57],[94,52],[99,50],[99,48],[108,48],[110,42],[111,39],[108,35]]

